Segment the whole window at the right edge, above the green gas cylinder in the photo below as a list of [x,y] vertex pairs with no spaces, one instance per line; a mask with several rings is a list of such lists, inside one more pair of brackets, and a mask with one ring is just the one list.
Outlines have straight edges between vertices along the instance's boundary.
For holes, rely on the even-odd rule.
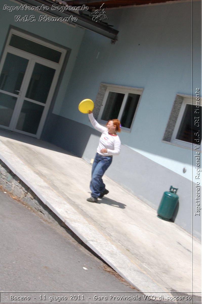
[[[190,148],[192,148],[193,145],[200,146],[200,126],[200,101],[197,101],[194,97],[192,98],[192,96],[177,95],[163,140]],[[170,131],[172,134],[169,138]]]

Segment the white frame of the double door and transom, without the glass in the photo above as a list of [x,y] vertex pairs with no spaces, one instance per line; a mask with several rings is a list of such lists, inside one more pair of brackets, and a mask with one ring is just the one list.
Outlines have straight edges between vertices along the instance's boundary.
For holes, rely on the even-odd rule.
[[[61,52],[61,57],[60,57],[59,63],[53,62],[51,60],[48,60],[48,59],[30,54],[26,51],[19,50],[15,47],[9,46],[9,42],[10,42],[12,34],[15,34],[17,36],[23,37],[23,38],[31,40],[35,43],[39,43],[40,45],[44,45],[46,47],[49,47],[51,49],[54,49],[54,50],[57,50],[57,51]],[[43,64],[47,67],[51,67],[51,68],[56,70],[55,74],[53,76],[53,80],[52,80],[52,83],[51,83],[51,86],[50,86],[50,90],[49,90],[47,99],[46,99],[46,103],[42,104],[40,102],[35,101],[35,103],[41,104],[41,105],[44,106],[43,114],[41,116],[40,123],[39,123],[38,130],[37,130],[36,134],[32,134],[32,133],[28,133],[28,132],[24,132],[24,131],[15,129],[18,118],[19,118],[19,114],[20,114],[20,111],[21,111],[21,108],[22,108],[23,100],[24,100],[23,95],[21,95],[21,94],[15,95],[13,93],[8,94],[7,91],[0,90],[1,93],[6,93],[8,95],[17,97],[15,108],[13,110],[11,123],[9,124],[9,127],[2,126],[2,125],[0,125],[0,127],[3,128],[3,129],[11,130],[11,131],[14,131],[14,132],[17,132],[17,133],[29,135],[29,136],[36,137],[36,138],[39,139],[40,135],[42,133],[42,130],[43,130],[43,126],[44,126],[47,114],[48,114],[48,110],[50,108],[50,104],[51,104],[51,101],[52,101],[52,98],[53,98],[53,94],[54,94],[55,89],[56,89],[56,85],[58,83],[58,78],[59,78],[60,71],[61,71],[61,68],[63,66],[63,63],[64,63],[64,59],[65,59],[65,56],[66,56],[66,53],[67,53],[67,49],[64,49],[60,46],[55,46],[54,44],[51,44],[50,42],[46,42],[44,40],[41,40],[41,39],[36,38],[34,36],[31,36],[29,34],[22,33],[22,32],[20,32],[16,29],[10,29],[10,32],[9,32],[9,35],[8,35],[8,38],[7,38],[7,41],[6,41],[6,44],[5,44],[5,48],[4,48],[2,57],[1,57],[0,74],[1,74],[1,71],[2,71],[2,67],[4,65],[7,53],[11,53],[11,54],[14,54],[14,55],[17,55],[17,56],[20,56],[20,57],[23,57],[23,58],[29,60],[27,68],[26,68],[26,72],[25,72],[25,75],[24,75],[24,78],[23,78],[23,81],[22,81],[21,89],[20,89],[20,91],[23,92],[24,95],[26,94],[26,89],[28,88],[29,81],[31,79],[31,75],[32,75],[32,71],[33,71],[35,63]],[[20,100],[20,102],[19,102],[19,100]],[[30,99],[30,101],[33,102],[31,99]]]

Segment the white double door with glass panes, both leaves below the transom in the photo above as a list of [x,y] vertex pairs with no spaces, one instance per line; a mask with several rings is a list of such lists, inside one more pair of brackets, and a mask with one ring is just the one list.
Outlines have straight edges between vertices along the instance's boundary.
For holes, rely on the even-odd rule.
[[0,72],[0,127],[39,138],[58,63],[8,47]]

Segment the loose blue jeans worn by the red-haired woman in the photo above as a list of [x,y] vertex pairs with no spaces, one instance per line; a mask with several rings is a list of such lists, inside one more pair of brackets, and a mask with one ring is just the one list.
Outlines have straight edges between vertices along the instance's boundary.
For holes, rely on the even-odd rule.
[[92,172],[91,172],[91,196],[98,197],[101,192],[105,190],[105,185],[103,183],[102,177],[104,172],[109,168],[112,162],[112,157],[102,156],[98,153],[95,154]]

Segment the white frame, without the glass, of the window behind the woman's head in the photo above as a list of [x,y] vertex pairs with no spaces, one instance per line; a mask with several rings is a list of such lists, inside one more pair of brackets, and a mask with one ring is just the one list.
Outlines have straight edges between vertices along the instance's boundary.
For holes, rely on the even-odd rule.
[[120,121],[121,121],[121,117],[122,117],[122,114],[123,114],[123,110],[124,110],[126,102],[127,102],[128,94],[132,93],[132,94],[140,95],[139,101],[138,101],[138,104],[137,104],[137,107],[136,107],[136,110],[135,110],[135,114],[134,114],[133,119],[132,119],[131,127],[126,128],[126,127],[122,126],[122,128],[121,128],[122,130],[124,130],[126,132],[130,132],[131,129],[132,129],[132,125],[133,125],[136,113],[137,113],[137,109],[138,109],[138,106],[139,106],[139,103],[140,103],[140,99],[141,99],[141,96],[142,96],[143,89],[142,88],[124,87],[124,86],[120,86],[120,85],[109,85],[109,84],[102,84],[102,85],[106,85],[107,88],[106,88],[106,91],[105,91],[105,94],[104,94],[104,98],[102,100],[101,107],[99,109],[99,114],[98,114],[98,119],[97,120],[98,120],[99,123],[101,123],[103,125],[105,125],[107,123],[107,121],[101,119],[101,116],[103,114],[104,107],[106,105],[109,92],[125,94],[125,96],[123,98],[123,101],[122,101],[122,105],[121,105],[119,114],[118,114],[118,118],[117,118]]

